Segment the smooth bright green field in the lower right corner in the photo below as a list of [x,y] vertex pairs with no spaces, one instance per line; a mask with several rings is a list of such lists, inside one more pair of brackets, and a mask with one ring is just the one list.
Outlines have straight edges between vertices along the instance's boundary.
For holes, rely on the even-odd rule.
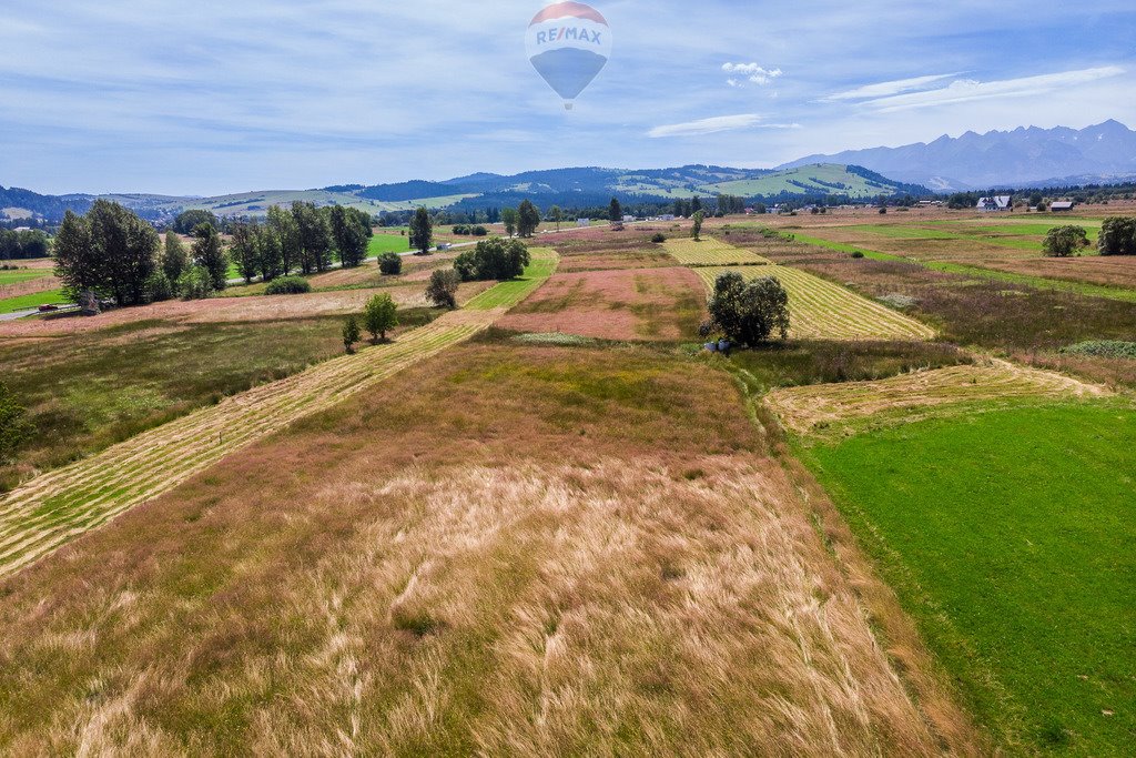
[[1035,406],[804,452],[979,720],[1014,751],[1136,744],[1136,410]]

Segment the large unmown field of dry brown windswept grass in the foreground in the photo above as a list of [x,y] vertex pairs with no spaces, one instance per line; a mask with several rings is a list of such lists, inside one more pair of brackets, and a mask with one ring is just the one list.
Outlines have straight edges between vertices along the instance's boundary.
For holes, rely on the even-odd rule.
[[459,347],[0,583],[0,744],[979,752],[808,514],[725,374]]

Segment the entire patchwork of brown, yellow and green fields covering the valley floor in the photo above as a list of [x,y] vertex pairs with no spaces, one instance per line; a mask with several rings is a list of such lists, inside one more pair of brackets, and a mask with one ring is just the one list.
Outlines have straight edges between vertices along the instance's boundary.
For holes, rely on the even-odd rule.
[[[1125,755],[1136,288],[1036,264],[1051,220],[603,225],[450,313],[458,251],[0,324],[0,752]],[[787,341],[701,349],[724,270]]]

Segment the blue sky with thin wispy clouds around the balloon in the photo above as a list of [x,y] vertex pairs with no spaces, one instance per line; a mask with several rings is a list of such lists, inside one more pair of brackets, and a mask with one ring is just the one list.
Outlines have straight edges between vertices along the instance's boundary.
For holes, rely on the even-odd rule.
[[525,56],[543,5],[6,0],[0,184],[767,167],[967,130],[1136,127],[1131,0],[595,0],[615,49],[571,113]]

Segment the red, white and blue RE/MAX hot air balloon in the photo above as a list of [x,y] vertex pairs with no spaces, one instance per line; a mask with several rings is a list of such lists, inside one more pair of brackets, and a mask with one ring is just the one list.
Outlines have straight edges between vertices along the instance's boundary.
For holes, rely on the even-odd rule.
[[525,36],[528,59],[571,110],[611,55],[611,30],[595,8],[554,2],[536,14]]

